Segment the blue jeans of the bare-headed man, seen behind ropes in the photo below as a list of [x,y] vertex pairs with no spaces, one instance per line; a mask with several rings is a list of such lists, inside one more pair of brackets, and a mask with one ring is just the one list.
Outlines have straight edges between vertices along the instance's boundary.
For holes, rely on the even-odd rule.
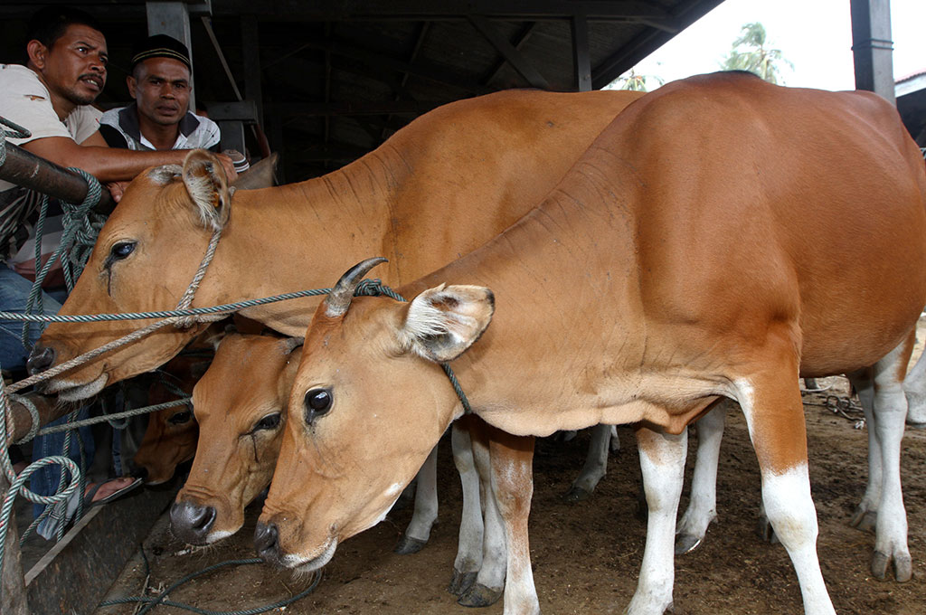
[[[6,263],[0,263],[0,311],[22,313],[26,308],[26,303],[29,301],[31,290],[32,282],[23,278],[16,271],[11,270],[6,266]],[[63,298],[61,296],[62,300]],[[61,309],[61,304],[54,296],[43,293],[42,307],[45,314],[56,314]],[[30,348],[27,349],[22,345],[22,321],[0,320],[0,367],[3,367],[4,370],[24,371],[31,346],[35,345],[43,330],[44,323],[39,323],[30,328]],[[88,416],[89,408],[81,408],[79,418],[86,419]],[[61,417],[49,423],[49,425],[59,425],[67,420],[67,417]],[[82,427],[80,433],[83,441],[84,456],[89,464],[94,458],[94,436],[89,427]],[[76,435],[76,433],[71,435],[68,456],[80,466],[81,447],[77,442]],[[32,461],[52,455],[61,455],[64,450],[64,438],[64,433],[49,433],[48,435],[36,436],[32,440]],[[40,468],[32,474],[29,488],[40,496],[51,496],[57,490],[60,475],[61,470],[58,466]],[[44,508],[44,504],[34,505],[35,516],[38,517],[42,514]]]

